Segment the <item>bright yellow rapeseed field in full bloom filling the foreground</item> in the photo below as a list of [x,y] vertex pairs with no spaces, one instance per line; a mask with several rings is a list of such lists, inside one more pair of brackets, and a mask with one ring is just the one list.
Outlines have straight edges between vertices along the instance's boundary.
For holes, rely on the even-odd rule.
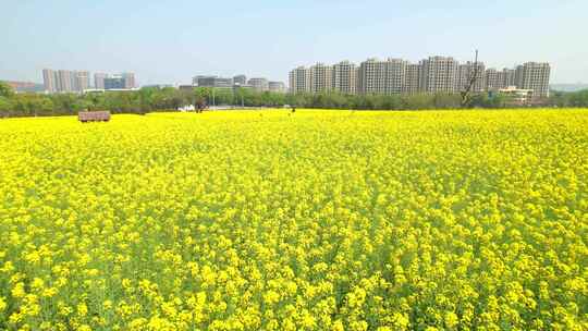
[[0,330],[588,330],[588,110],[0,120]]

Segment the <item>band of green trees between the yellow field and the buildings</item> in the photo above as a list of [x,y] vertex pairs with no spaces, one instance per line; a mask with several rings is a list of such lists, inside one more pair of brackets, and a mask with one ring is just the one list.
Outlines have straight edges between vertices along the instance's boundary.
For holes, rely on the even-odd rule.
[[[457,94],[422,95],[342,95],[342,94],[280,94],[250,89],[196,87],[182,90],[172,87],[142,88],[133,91],[77,94],[16,94],[0,82],[0,117],[40,117],[76,114],[81,110],[110,110],[113,113],[147,113],[176,111],[205,102],[208,106],[331,108],[359,110],[456,109],[461,108]],[[552,93],[543,107],[588,107],[588,90]],[[467,108],[512,107],[501,96],[473,95]]]

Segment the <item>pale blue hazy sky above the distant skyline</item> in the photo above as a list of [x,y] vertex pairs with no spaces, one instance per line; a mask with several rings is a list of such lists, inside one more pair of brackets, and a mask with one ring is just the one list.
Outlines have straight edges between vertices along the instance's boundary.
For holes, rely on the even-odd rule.
[[552,64],[588,82],[588,0],[0,0],[0,79],[41,70],[131,71],[139,84],[197,74],[286,81],[297,65],[432,54]]

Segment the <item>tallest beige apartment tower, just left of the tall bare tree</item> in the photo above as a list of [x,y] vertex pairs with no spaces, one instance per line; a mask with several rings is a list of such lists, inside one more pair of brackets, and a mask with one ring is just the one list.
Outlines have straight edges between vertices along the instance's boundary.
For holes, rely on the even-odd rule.
[[420,61],[419,84],[425,93],[454,93],[457,61],[449,57],[429,57]]

